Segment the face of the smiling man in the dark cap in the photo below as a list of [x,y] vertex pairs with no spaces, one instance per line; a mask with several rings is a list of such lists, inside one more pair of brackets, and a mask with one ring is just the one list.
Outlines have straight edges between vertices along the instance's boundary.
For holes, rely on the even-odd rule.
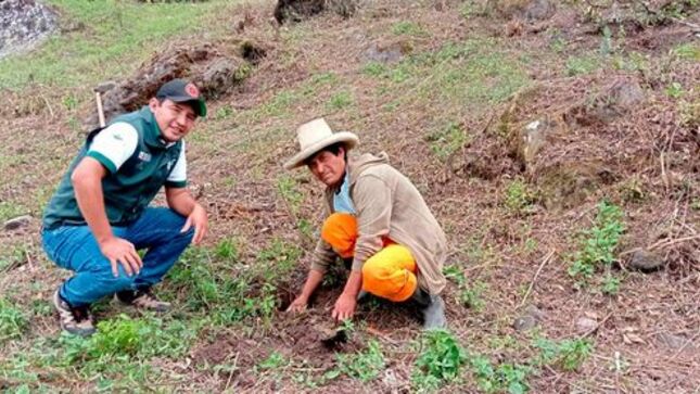
[[181,140],[194,126],[196,114],[189,104],[176,103],[168,99],[163,102],[151,99],[149,106],[161,128],[161,137],[167,142]]

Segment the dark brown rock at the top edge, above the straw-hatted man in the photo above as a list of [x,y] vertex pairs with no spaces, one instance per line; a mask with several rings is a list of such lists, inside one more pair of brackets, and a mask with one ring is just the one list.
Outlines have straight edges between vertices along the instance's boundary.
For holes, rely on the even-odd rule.
[[349,17],[357,11],[357,0],[278,0],[273,15],[281,25],[287,22],[302,22],[323,11]]

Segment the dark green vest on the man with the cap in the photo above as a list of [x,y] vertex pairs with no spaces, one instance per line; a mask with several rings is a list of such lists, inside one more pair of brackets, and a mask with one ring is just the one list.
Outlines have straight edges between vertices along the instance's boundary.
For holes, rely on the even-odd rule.
[[167,147],[161,138],[161,129],[148,106],[118,116],[112,124],[117,122],[128,123],[136,128],[139,135],[136,151],[115,171],[116,168],[112,162],[104,156],[98,152],[88,153],[90,142],[102,129],[90,132],[43,213],[46,229],[86,225],[71,182],[71,174],[86,155],[98,160],[110,171],[102,178],[102,192],[107,220],[112,226],[128,226],[138,219],[164,185],[176,188],[184,187],[183,182],[167,181],[167,177],[180,155],[182,142],[178,141]]

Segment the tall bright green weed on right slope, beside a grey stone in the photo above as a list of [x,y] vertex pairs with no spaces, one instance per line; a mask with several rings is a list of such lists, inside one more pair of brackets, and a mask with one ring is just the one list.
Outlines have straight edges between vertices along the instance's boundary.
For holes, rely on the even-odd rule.
[[596,268],[610,267],[615,260],[614,251],[625,230],[622,209],[607,201],[598,204],[598,215],[593,227],[584,231],[582,250],[575,252],[569,275],[588,280]]

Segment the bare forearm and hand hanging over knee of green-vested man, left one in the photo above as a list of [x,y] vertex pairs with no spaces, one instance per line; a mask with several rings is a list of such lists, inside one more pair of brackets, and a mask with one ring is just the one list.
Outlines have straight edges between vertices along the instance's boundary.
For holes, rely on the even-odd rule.
[[104,208],[102,178],[107,170],[96,158],[86,156],[78,163],[71,175],[78,208],[87,221],[92,236],[100,245],[102,254],[110,259],[112,274],[118,276],[117,263],[122,264],[127,275],[138,274],[143,263],[133,244],[114,237],[112,226]]

